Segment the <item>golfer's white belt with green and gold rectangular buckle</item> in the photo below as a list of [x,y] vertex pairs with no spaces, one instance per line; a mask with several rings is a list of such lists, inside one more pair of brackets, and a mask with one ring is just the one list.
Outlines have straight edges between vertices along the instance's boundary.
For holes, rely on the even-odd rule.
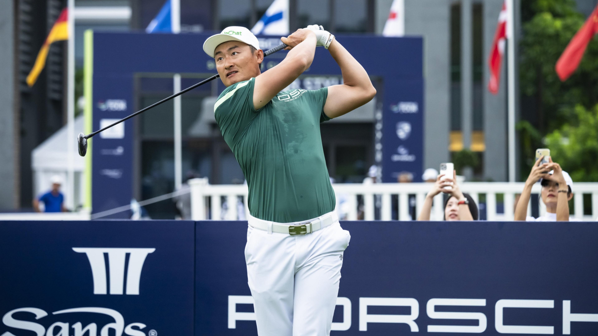
[[331,226],[333,223],[338,222],[338,215],[336,211],[332,211],[314,219],[294,223],[269,222],[268,220],[255,218],[254,216],[249,215],[248,222],[253,228],[268,231],[268,233],[276,232],[277,234],[305,235],[318,231],[319,229],[324,229],[327,226]]

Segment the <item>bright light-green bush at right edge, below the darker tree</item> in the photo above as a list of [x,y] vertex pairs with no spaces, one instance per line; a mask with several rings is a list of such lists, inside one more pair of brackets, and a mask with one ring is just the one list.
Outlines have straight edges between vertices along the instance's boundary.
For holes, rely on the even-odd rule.
[[576,120],[547,135],[547,148],[573,181],[598,182],[598,105],[577,105],[575,114]]

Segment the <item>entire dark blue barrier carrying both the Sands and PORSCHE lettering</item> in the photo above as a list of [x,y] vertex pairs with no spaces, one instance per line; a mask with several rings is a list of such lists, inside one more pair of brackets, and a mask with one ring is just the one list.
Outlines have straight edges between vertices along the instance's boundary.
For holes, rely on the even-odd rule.
[[[332,334],[598,333],[596,223],[341,226]],[[0,335],[257,335],[246,227],[0,222]]]

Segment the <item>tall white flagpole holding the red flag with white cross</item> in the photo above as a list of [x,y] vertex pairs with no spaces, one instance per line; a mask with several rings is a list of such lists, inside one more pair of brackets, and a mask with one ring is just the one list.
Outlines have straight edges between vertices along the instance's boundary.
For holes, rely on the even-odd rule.
[[515,0],[507,0],[509,182],[515,181]]

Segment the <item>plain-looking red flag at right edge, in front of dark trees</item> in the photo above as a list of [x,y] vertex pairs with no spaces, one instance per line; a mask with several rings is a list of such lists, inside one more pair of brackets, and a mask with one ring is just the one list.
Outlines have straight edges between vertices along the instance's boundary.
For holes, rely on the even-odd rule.
[[584,57],[585,47],[596,33],[598,33],[598,6],[594,8],[588,20],[575,34],[557,61],[556,71],[561,81],[566,81],[575,72]]

